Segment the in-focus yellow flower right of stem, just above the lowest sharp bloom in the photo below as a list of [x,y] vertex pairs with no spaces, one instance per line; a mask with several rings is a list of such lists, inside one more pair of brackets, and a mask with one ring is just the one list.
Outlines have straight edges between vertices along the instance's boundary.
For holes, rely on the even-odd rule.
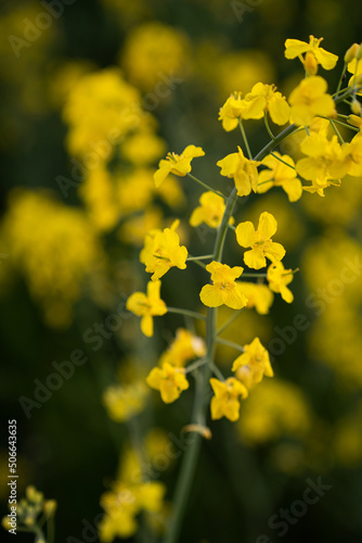
[[244,353],[234,361],[232,371],[236,371],[237,379],[247,389],[255,387],[262,380],[263,376],[273,377],[269,353],[259,338],[255,338],[251,343],[244,345]]

